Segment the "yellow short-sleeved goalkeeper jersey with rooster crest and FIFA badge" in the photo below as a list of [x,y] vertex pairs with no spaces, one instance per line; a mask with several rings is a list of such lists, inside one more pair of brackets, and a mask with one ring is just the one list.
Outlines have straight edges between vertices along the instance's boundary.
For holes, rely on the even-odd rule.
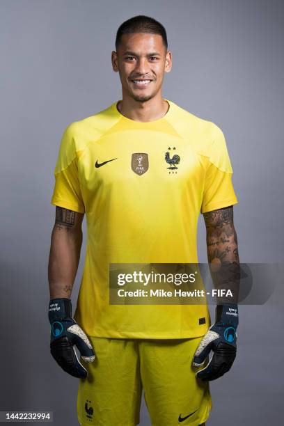
[[109,264],[196,263],[199,214],[237,203],[221,129],[166,101],[159,120],[131,120],[114,102],[63,133],[51,203],[86,214],[74,318],[89,336],[191,338],[210,326],[206,305],[109,303]]

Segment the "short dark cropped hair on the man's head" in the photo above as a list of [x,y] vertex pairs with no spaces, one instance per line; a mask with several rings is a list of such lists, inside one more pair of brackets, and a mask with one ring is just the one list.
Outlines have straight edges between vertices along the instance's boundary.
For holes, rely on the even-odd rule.
[[123,34],[131,33],[159,34],[163,39],[164,46],[166,47],[166,49],[168,49],[166,29],[160,22],[156,21],[156,19],[150,16],[137,15],[123,22],[123,24],[120,25],[116,33],[116,50],[118,49],[118,45]]

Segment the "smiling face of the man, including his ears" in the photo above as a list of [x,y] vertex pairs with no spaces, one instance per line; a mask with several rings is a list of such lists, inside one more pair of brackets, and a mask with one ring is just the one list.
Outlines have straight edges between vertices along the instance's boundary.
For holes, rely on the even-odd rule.
[[164,73],[171,71],[171,52],[159,34],[123,34],[118,52],[112,52],[113,70],[119,72],[123,95],[146,102],[161,90]]

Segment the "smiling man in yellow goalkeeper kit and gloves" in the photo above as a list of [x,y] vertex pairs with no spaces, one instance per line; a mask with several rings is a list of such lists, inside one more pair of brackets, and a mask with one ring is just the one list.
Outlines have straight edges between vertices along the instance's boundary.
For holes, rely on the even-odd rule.
[[[111,61],[123,99],[69,125],[56,163],[52,355],[80,378],[81,425],[138,425],[142,388],[152,425],[205,425],[209,381],[235,358],[237,304],[219,304],[211,327],[206,304],[111,305],[109,265],[198,262],[200,212],[210,264],[238,265],[226,141],[214,123],[162,97],[172,58],[155,19],[124,22]],[[88,240],[73,319],[84,214]]]

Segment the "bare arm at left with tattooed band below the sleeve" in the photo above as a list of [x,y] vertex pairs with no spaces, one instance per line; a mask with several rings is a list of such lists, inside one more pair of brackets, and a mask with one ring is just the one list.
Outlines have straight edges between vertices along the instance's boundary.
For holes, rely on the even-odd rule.
[[79,265],[84,213],[56,206],[49,253],[48,281],[50,299],[70,299]]

